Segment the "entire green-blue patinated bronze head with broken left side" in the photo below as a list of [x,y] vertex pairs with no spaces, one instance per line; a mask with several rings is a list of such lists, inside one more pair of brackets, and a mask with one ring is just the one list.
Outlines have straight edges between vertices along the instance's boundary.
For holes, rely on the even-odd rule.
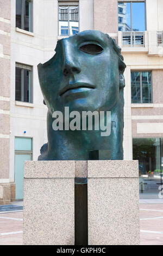
[[[121,48],[100,31],[84,31],[58,41],[53,58],[38,65],[48,107],[48,143],[38,160],[89,160],[90,151],[105,149],[110,150],[110,159],[123,159],[125,68]],[[101,130],[54,131],[52,114],[64,113],[65,107],[79,113],[111,111],[110,136],[101,136]]]

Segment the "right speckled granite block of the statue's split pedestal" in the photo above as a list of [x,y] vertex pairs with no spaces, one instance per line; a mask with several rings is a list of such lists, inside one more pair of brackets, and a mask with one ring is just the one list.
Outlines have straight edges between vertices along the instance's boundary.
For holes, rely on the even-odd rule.
[[138,161],[88,161],[89,245],[139,245]]

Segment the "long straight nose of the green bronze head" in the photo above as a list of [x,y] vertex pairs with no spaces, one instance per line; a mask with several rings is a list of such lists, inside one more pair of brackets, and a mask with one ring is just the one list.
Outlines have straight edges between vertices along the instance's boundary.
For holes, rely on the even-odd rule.
[[74,53],[74,45],[68,40],[63,40],[62,42],[62,50],[63,50],[63,65],[62,72],[65,76],[74,75],[80,73],[80,64],[78,57]]

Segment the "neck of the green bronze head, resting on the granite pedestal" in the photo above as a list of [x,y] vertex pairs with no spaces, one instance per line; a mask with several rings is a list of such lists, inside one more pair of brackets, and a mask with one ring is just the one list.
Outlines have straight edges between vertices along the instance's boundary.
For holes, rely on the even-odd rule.
[[89,160],[89,152],[99,149],[110,150],[112,160],[123,159],[123,107],[111,111],[110,136],[101,136],[101,130],[54,131],[53,121],[48,112],[48,147],[42,160]]

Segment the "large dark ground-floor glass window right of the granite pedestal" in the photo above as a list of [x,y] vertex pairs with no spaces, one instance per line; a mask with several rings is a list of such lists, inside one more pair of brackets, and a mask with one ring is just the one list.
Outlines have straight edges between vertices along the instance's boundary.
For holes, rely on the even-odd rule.
[[139,160],[140,197],[158,198],[160,171],[160,139],[133,138],[133,160]]

